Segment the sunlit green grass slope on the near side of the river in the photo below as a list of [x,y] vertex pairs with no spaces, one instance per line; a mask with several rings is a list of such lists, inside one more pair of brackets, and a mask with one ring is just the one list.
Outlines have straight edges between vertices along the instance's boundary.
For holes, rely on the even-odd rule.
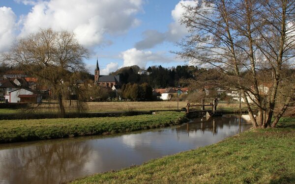
[[217,144],[148,161],[74,184],[295,183],[295,119],[279,128],[250,130]]

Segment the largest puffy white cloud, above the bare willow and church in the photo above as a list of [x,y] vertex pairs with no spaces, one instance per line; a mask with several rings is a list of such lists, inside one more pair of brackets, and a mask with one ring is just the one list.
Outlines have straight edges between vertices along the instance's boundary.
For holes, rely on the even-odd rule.
[[103,44],[105,34],[122,34],[140,24],[134,15],[142,11],[142,4],[143,0],[37,1],[22,19],[21,36],[52,27],[74,31],[80,43],[87,47]]

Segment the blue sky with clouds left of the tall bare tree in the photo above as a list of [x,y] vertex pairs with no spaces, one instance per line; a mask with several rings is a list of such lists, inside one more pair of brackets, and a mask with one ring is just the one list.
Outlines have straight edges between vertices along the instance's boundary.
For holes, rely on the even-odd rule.
[[73,31],[89,49],[85,60],[94,74],[138,65],[141,68],[188,64],[171,51],[187,28],[179,23],[181,4],[193,0],[0,0],[0,53],[40,28]]

